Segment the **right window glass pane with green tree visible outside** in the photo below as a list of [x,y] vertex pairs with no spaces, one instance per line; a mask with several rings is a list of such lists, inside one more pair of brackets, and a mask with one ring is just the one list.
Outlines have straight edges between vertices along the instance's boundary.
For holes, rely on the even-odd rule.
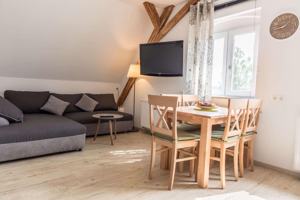
[[234,35],[231,90],[251,91],[255,32]]

